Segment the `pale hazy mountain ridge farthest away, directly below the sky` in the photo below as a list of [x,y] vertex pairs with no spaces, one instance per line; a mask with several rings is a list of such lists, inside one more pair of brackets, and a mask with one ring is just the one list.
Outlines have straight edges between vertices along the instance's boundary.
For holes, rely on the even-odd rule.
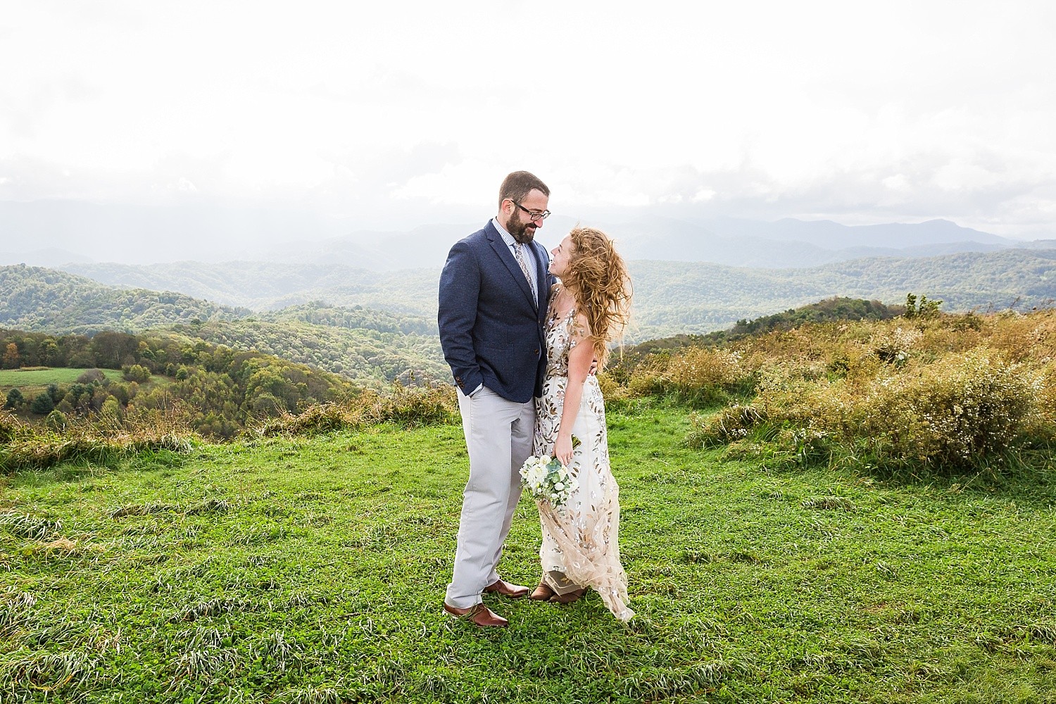
[[[700,208],[558,213],[539,231],[548,248],[574,225],[599,227],[630,260],[711,262],[761,268],[810,267],[861,256],[935,256],[961,251],[1056,246],[1023,242],[944,220],[842,225],[792,217],[775,222],[713,217]],[[674,215],[674,216],[673,216]],[[0,202],[0,264],[57,267],[71,262],[224,262],[245,259],[340,264],[377,271],[440,266],[451,245],[488,221],[434,223],[403,230],[352,230],[307,212],[241,211],[205,203],[97,205],[75,201]],[[1056,233],[1053,233],[1056,235]],[[91,243],[107,243],[103,246]]]

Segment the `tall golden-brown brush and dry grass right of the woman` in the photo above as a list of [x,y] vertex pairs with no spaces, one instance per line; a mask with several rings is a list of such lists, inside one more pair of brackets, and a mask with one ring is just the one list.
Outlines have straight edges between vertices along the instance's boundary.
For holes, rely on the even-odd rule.
[[799,462],[959,471],[1056,437],[1052,310],[804,325],[641,372],[643,391],[683,396],[753,380],[739,402],[697,418],[686,441],[766,445]]

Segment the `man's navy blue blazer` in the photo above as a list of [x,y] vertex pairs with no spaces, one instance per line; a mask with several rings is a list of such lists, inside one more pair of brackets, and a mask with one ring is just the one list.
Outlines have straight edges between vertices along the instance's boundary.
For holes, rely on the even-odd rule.
[[543,245],[532,242],[529,249],[539,282],[534,302],[521,266],[490,221],[448,254],[437,322],[444,358],[466,394],[483,383],[517,403],[543,395],[543,319],[554,278]]

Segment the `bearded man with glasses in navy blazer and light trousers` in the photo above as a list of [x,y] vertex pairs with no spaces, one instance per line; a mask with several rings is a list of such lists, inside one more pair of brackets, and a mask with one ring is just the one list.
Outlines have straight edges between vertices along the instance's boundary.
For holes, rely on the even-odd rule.
[[495,567],[521,498],[518,470],[531,454],[546,369],[543,323],[554,280],[534,235],[550,214],[549,197],[536,176],[509,174],[498,213],[451,248],[440,274],[440,344],[458,387],[470,465],[444,609],[477,626],[507,625],[484,606],[483,592],[528,594]]

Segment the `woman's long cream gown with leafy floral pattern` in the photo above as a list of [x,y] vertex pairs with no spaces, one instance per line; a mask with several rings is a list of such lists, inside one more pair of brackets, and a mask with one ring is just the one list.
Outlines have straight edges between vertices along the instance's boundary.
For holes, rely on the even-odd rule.
[[[554,293],[550,301],[557,298]],[[535,414],[533,455],[553,455],[568,384],[568,353],[577,344],[589,342],[577,329],[576,309],[559,319],[551,303],[546,320],[546,377]],[[580,441],[570,468],[579,479],[579,491],[560,509],[538,502],[543,525],[543,578],[559,594],[591,587],[617,619],[628,621],[635,612],[627,607],[627,575],[620,565],[620,488],[608,465],[605,403],[595,375],[587,376],[583,384],[572,436]]]

